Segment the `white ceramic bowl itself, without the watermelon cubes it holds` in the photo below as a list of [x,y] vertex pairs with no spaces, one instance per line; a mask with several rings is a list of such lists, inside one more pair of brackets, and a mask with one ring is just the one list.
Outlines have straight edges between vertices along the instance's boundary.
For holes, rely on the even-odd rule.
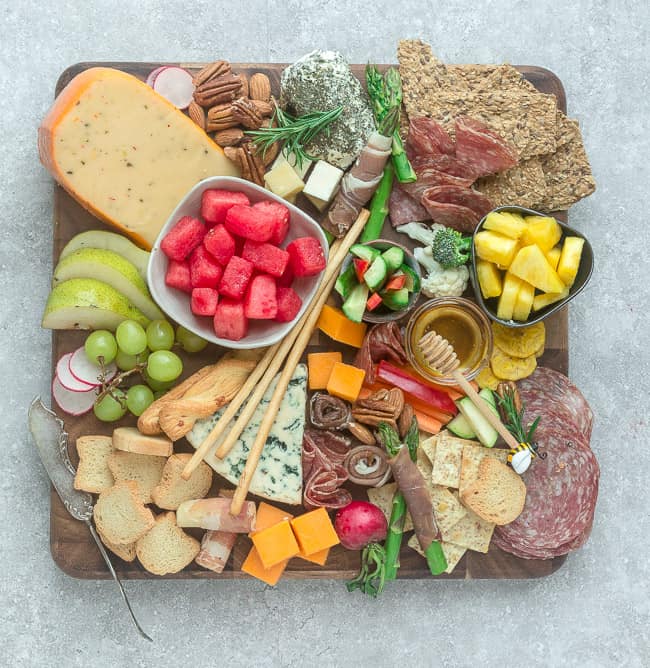
[[323,277],[323,272],[317,276],[297,278],[293,282],[293,289],[302,299],[302,308],[291,322],[274,322],[273,320],[251,320],[248,335],[239,341],[221,339],[214,333],[212,318],[207,316],[195,316],[190,309],[190,295],[176,288],[170,288],[165,284],[168,259],[160,250],[160,242],[169,230],[183,216],[200,216],[201,196],[205,190],[218,188],[220,190],[231,190],[245,193],[252,203],[262,200],[274,200],[284,204],[290,211],[291,222],[289,233],[283,241],[286,247],[298,237],[315,237],[323,248],[327,259],[328,244],[325,234],[320,225],[304,211],[290,204],[286,200],[274,195],[272,192],[261,188],[250,181],[238,179],[233,176],[213,176],[197,183],[174,209],[171,216],[160,230],[156,243],[151,249],[149,266],[147,267],[147,279],[149,290],[155,302],[175,322],[186,327],[200,337],[216,343],[224,348],[262,348],[280,341],[291,330],[299,320],[305,309],[314,298],[318,285]]

